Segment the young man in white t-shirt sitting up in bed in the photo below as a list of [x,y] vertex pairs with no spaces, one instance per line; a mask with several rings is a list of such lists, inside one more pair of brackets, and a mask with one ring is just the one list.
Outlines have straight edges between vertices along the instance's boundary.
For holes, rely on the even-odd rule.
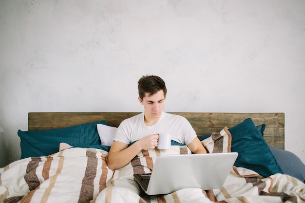
[[141,150],[155,148],[158,133],[171,134],[172,140],[187,145],[193,153],[207,153],[186,118],[163,112],[167,93],[163,79],[155,75],[142,76],[138,91],[144,112],[124,120],[118,127],[108,154],[109,168],[126,166]]

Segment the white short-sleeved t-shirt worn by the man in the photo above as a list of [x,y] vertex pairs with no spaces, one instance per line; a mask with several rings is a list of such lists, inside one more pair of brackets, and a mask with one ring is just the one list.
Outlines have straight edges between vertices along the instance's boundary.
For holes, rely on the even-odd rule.
[[168,133],[172,140],[189,145],[197,137],[190,122],[183,116],[162,112],[160,119],[153,126],[144,123],[144,112],[125,119],[119,125],[114,140],[129,145],[141,138],[157,133]]

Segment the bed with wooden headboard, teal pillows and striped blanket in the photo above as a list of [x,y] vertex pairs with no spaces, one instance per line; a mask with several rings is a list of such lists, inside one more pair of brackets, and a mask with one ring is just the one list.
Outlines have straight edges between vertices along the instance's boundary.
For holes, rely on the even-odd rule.
[[133,174],[151,172],[159,155],[191,151],[172,141],[170,150],[143,150],[111,170],[107,155],[116,128],[137,113],[30,112],[28,130],[18,131],[21,159],[0,168],[0,202],[305,202],[305,166],[284,150],[284,113],[173,112],[190,121],[209,153],[239,156],[222,188],[155,196],[145,195]]

